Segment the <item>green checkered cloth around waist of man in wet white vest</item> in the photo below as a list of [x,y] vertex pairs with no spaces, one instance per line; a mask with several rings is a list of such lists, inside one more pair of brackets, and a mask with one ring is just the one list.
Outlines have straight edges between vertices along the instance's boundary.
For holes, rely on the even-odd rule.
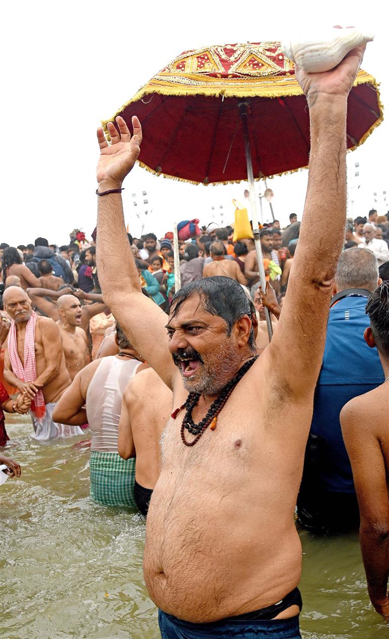
[[90,497],[103,506],[127,506],[137,509],[133,498],[135,458],[122,459],[117,452],[91,451]]

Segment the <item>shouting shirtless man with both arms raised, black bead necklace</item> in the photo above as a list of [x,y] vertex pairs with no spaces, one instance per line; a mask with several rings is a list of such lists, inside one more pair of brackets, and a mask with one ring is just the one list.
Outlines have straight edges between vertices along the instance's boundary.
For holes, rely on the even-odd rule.
[[103,298],[173,391],[144,551],[164,639],[300,636],[293,513],[343,243],[347,95],[362,55],[355,49],[326,73],[296,70],[310,111],[309,183],[277,331],[255,361],[248,300],[232,279],[188,284],[174,296],[169,318],[142,295],[120,194],[139,155],[141,125],[134,116],[130,137],[118,117],[118,128],[108,124],[110,145],[98,129]]

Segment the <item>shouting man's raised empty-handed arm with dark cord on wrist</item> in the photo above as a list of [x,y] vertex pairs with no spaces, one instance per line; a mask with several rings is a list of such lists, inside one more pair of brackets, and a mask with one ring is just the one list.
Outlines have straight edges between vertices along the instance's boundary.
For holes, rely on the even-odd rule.
[[[98,129],[100,159],[97,165],[98,192],[121,189],[139,155],[142,129],[132,119],[134,135],[123,118],[116,118],[118,130],[108,124],[111,145]],[[172,388],[177,375],[169,355],[165,330],[167,315],[142,294],[141,283],[126,235],[120,193],[98,197],[96,258],[98,279],[105,304],[111,309],[128,339],[156,373]]]

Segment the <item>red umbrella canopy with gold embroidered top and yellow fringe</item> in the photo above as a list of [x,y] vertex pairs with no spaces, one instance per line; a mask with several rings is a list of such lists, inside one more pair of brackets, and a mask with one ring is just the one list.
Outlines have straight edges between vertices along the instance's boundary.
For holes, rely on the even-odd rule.
[[[139,164],[149,171],[194,183],[227,183],[247,180],[242,102],[255,179],[307,166],[307,100],[278,42],[186,51],[112,121],[121,115],[131,130],[131,116],[141,120]],[[362,144],[382,120],[376,80],[360,70],[348,98],[347,148]]]

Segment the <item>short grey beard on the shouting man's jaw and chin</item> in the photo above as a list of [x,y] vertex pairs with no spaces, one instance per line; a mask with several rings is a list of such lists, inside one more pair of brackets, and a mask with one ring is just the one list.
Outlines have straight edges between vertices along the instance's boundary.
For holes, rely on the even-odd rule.
[[231,381],[240,365],[240,358],[231,340],[219,346],[209,355],[202,366],[201,379],[191,382],[183,376],[183,385],[188,392],[213,397]]

